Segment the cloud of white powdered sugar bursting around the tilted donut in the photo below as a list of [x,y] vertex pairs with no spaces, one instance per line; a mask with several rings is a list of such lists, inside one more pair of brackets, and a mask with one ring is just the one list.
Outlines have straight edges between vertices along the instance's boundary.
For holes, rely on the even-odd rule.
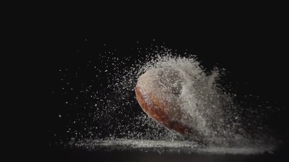
[[[88,101],[82,106],[86,111],[77,113],[68,126],[72,136],[70,147],[220,154],[256,154],[272,152],[276,147],[265,126],[259,129],[258,121],[252,121],[253,113],[242,115],[251,110],[238,104],[235,94],[230,94],[221,84],[224,69],[216,67],[208,71],[195,56],[181,57],[167,48],[142,52],[142,57],[130,65],[126,63],[130,58],[102,56],[100,59],[105,65],[110,64],[106,68],[111,66],[113,70],[97,69],[98,82],[95,82],[101,91],[94,91],[92,85],[80,91]],[[142,111],[134,88],[142,74],[154,69],[170,69],[181,76],[181,81],[173,81],[174,90],[180,93],[177,102],[182,112],[190,117],[181,122],[194,127],[201,139],[179,136]],[[162,81],[160,84],[166,84]],[[73,129],[76,123],[83,129]]]

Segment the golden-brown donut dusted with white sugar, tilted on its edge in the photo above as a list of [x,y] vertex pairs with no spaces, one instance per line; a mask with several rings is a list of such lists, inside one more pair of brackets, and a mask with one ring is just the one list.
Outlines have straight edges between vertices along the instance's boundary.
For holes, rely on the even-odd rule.
[[179,96],[184,79],[173,68],[156,68],[141,75],[135,87],[136,99],[143,111],[169,131],[181,136],[196,135],[191,117],[181,110]]

